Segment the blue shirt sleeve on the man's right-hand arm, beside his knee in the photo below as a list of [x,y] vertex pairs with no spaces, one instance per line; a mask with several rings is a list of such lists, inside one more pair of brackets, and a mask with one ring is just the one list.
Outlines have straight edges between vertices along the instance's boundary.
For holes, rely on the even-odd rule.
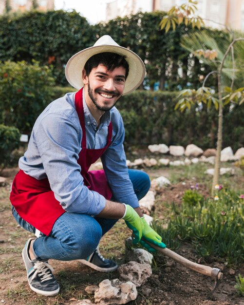
[[113,132],[115,132],[115,135],[113,136],[112,144],[101,156],[103,169],[115,200],[129,204],[132,208],[137,208],[139,207],[138,199],[133,190],[126,165],[123,146],[125,130],[120,114],[116,120],[113,120]]

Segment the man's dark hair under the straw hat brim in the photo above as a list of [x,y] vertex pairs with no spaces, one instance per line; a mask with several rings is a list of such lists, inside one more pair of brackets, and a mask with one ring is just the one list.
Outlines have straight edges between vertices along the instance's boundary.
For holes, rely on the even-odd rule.
[[85,66],[84,69],[86,71],[86,75],[89,76],[93,68],[96,68],[99,64],[104,65],[108,71],[113,71],[115,68],[118,67],[124,67],[126,70],[125,78],[127,78],[129,74],[129,64],[126,61],[126,56],[118,55],[116,53],[111,52],[104,52],[104,53],[98,53],[94,56],[90,57]]

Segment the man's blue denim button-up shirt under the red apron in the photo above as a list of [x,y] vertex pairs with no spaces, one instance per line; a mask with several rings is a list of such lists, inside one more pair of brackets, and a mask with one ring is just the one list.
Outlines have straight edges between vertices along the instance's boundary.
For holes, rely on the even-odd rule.
[[[81,151],[82,129],[75,110],[75,93],[68,93],[47,106],[33,127],[27,151],[19,159],[19,168],[36,178],[48,178],[55,198],[67,212],[96,215],[105,207],[105,198],[83,184],[77,163]],[[113,124],[112,143],[101,161],[116,201],[139,206],[126,166],[123,147],[124,125],[113,107],[101,118],[98,130],[83,95],[88,149],[107,144],[108,125]]]

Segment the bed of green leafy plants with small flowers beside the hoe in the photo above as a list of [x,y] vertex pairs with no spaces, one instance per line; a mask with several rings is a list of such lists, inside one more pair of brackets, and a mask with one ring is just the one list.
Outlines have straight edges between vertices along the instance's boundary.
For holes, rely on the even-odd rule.
[[173,242],[192,242],[202,257],[218,256],[236,265],[244,261],[243,199],[225,189],[217,197],[204,199],[196,191],[186,191],[181,206],[171,205],[168,229],[160,221],[155,228],[163,237],[170,234]]

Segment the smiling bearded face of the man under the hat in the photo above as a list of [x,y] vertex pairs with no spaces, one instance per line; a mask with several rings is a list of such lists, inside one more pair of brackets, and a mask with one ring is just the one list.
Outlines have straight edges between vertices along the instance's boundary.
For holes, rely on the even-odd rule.
[[110,110],[123,94],[125,73],[126,69],[122,66],[111,72],[101,64],[92,69],[89,76],[83,70],[83,81],[90,97],[90,100],[86,98],[88,107],[92,102],[94,105],[90,106],[95,106],[97,110]]

